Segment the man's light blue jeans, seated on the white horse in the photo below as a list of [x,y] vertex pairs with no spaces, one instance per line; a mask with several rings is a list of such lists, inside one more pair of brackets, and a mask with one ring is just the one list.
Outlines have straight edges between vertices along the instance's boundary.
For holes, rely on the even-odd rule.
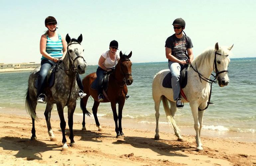
[[184,65],[178,62],[169,61],[168,66],[172,74],[173,100],[176,101],[180,97],[180,75]]

